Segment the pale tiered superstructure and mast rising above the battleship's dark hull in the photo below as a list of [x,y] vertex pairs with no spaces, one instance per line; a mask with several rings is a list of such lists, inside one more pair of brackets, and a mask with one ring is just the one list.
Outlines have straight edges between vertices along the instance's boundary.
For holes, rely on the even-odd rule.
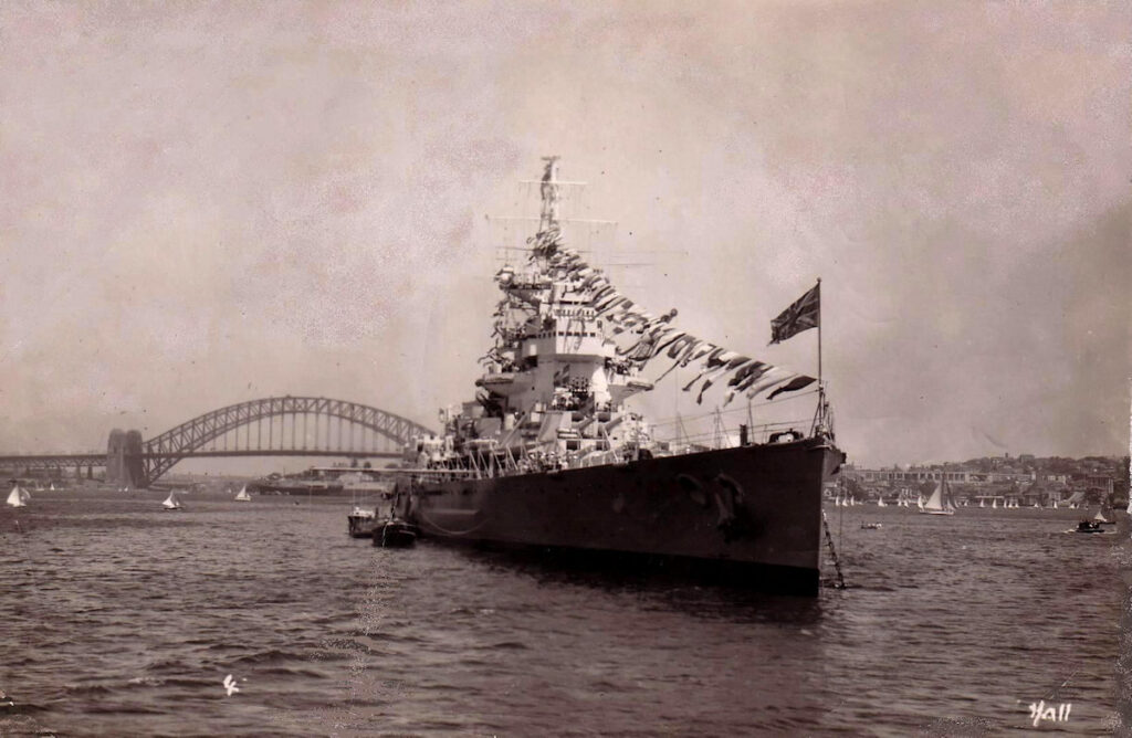
[[558,158],[548,157],[542,213],[531,254],[495,280],[495,345],[481,359],[477,400],[441,413],[445,436],[422,439],[418,461],[463,465],[469,453],[505,460],[500,471],[592,465],[638,455],[654,445],[649,426],[625,401],[652,388],[638,354],[623,353],[593,307],[589,273],[560,259]]

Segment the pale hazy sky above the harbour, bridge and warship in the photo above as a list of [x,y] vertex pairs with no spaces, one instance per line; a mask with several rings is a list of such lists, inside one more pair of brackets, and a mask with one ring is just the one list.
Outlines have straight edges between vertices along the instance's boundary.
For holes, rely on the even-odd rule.
[[2,3],[0,450],[286,394],[436,426],[490,343],[487,216],[555,154],[607,255],[649,265],[623,291],[702,338],[814,374],[816,332],[766,343],[822,278],[855,463],[1127,453],[1130,27],[1126,2]]

